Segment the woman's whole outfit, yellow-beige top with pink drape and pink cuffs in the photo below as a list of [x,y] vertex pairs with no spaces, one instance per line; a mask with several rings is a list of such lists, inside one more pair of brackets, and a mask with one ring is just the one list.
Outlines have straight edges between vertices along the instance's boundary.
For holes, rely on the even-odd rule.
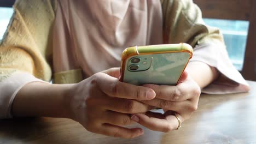
[[222,35],[203,23],[191,0],[18,0],[14,12],[0,45],[0,118],[11,117],[13,99],[26,83],[79,82],[120,67],[120,53],[131,45],[188,43],[195,47],[191,61],[221,73],[202,92],[248,87],[232,66]]

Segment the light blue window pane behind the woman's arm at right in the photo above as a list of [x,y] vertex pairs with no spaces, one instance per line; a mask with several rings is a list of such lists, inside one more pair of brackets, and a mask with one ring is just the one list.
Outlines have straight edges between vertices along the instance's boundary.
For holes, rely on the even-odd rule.
[[242,70],[245,57],[246,41],[249,28],[248,21],[203,19],[209,26],[218,27],[224,35],[229,57],[237,68]]

